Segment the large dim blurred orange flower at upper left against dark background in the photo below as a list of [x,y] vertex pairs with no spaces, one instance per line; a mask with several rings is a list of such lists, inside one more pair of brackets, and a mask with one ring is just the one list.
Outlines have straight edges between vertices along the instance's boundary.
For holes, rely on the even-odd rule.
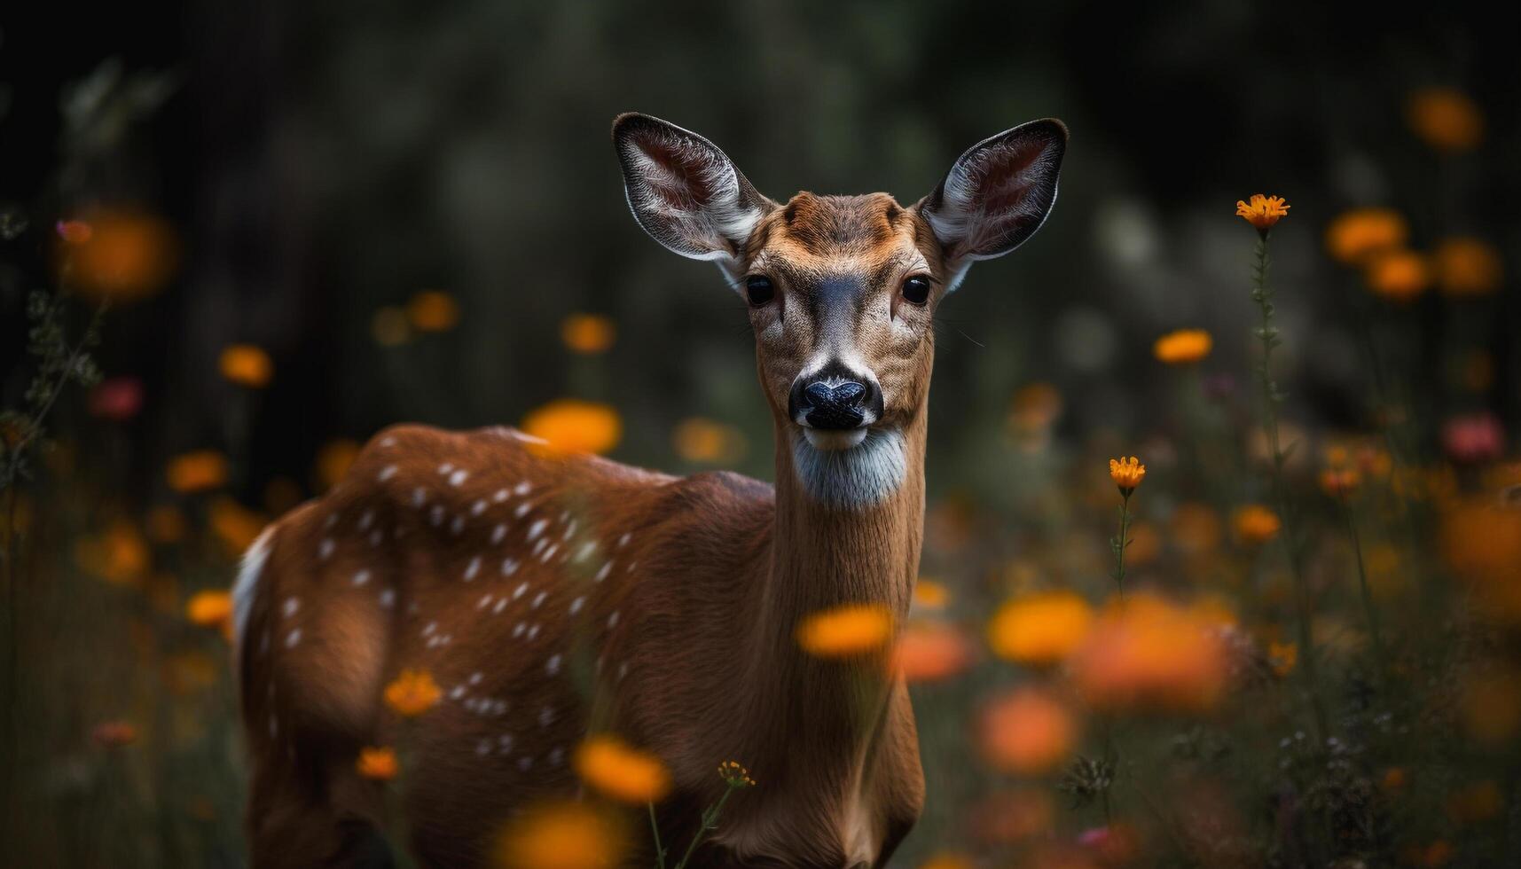
[[65,268],[96,300],[148,298],[173,277],[179,260],[173,228],[141,212],[93,212],[64,224],[62,236]]

